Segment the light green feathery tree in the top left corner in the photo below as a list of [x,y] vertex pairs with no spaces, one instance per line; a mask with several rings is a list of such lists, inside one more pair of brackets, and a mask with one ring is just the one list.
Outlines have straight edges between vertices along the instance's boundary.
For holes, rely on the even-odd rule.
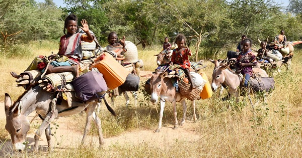
[[0,6],[2,45],[59,37],[62,12],[52,0],[39,4],[34,0],[0,1]]

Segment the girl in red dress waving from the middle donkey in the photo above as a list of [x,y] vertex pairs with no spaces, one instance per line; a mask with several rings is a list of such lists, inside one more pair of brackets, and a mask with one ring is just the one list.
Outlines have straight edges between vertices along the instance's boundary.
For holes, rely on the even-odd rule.
[[190,66],[191,63],[189,61],[189,56],[192,55],[191,50],[186,46],[186,37],[183,34],[178,34],[175,43],[177,44],[178,48],[173,50],[172,58],[171,58],[171,65],[177,64],[184,70],[185,74],[188,76],[188,80],[191,84],[191,89],[195,88],[193,85],[192,77],[190,74]]

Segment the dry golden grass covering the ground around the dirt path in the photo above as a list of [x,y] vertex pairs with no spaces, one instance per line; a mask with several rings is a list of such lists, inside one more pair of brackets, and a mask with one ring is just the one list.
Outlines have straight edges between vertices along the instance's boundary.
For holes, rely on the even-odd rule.
[[[38,54],[56,50],[56,48],[39,49]],[[153,71],[156,68],[154,54],[156,51],[139,50],[139,58],[143,60],[145,70]],[[70,149],[54,150],[51,153],[15,153],[8,154],[11,157],[301,157],[302,153],[302,51],[296,51],[292,62],[292,71],[285,71],[275,76],[275,90],[269,94],[267,103],[260,101],[251,108],[248,98],[240,103],[234,100],[221,101],[214,94],[212,98],[197,101],[197,115],[199,120],[192,126],[193,132],[199,134],[201,139],[197,142],[186,140],[174,141],[173,144],[165,144],[160,148],[153,144],[115,144],[111,148],[97,149],[93,146],[70,146]],[[46,55],[46,54],[45,54]],[[224,55],[220,54],[224,57]],[[16,64],[21,63],[22,64]],[[0,58],[1,72],[4,73],[0,81],[0,92],[13,94],[17,98],[22,93],[22,88],[14,87],[15,81],[9,74],[10,71],[22,72],[31,59],[7,59]],[[13,64],[14,63],[14,64]],[[213,64],[206,62],[208,66],[204,71],[209,80]],[[13,67],[17,66],[17,67]],[[145,80],[145,79],[143,79]],[[116,121],[102,108],[99,114],[105,137],[119,135],[130,130],[149,129],[154,130],[158,124],[159,105],[152,105],[148,97],[138,93],[138,107],[124,107],[123,97],[119,97],[115,104],[115,111],[119,114]],[[15,92],[15,93],[14,93]],[[131,95],[130,95],[131,96]],[[3,98],[0,98],[3,100]],[[257,99],[253,99],[256,102]],[[130,103],[133,103],[131,97]],[[190,101],[187,101],[190,104]],[[232,109],[226,107],[231,104]],[[181,106],[178,106],[178,118],[182,117]],[[85,117],[74,115],[79,131],[83,131]],[[187,119],[192,119],[192,109],[188,105]],[[163,123],[173,122],[173,112],[170,103],[167,103]],[[3,125],[4,123],[2,123]],[[96,133],[93,128],[93,133]],[[0,131],[0,135],[5,135]],[[4,138],[4,137],[2,137]],[[3,140],[3,139],[2,139]]]

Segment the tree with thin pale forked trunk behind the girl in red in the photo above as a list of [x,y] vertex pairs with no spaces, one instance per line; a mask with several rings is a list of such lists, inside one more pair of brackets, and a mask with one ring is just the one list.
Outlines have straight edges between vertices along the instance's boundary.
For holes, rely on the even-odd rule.
[[196,62],[200,46],[219,38],[222,25],[229,23],[224,1],[169,1],[167,5],[166,9],[174,17],[169,23],[178,26],[174,28],[178,30],[176,33],[184,33],[194,43]]

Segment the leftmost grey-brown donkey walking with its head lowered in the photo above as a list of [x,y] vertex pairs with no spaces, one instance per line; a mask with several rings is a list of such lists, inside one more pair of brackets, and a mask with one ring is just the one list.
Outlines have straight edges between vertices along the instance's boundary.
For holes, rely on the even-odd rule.
[[[42,135],[42,132],[45,131],[46,139],[48,143],[48,148],[51,150],[51,130],[50,123],[57,116],[67,116],[80,113],[85,110],[86,117],[86,126],[84,130],[84,135],[82,143],[86,140],[87,133],[91,127],[91,119],[94,119],[99,134],[100,146],[104,144],[104,138],[102,133],[101,120],[98,115],[94,112],[96,107],[96,101],[91,101],[87,103],[72,102],[72,107],[68,108],[67,101],[62,99],[61,103],[55,102],[55,93],[49,93],[42,89],[39,85],[29,87],[15,103],[12,103],[12,99],[9,94],[5,94],[5,112],[6,112],[6,130],[10,133],[12,143],[14,144],[15,149],[21,151],[24,149],[25,145],[23,142],[26,139],[27,132],[30,128],[30,123],[27,120],[28,116],[34,110],[37,111],[39,116],[43,118],[43,122],[40,125],[39,129],[35,134],[35,144],[34,149],[37,150],[39,147],[39,138]],[[108,105],[105,100],[107,109],[116,116],[114,110]]]

